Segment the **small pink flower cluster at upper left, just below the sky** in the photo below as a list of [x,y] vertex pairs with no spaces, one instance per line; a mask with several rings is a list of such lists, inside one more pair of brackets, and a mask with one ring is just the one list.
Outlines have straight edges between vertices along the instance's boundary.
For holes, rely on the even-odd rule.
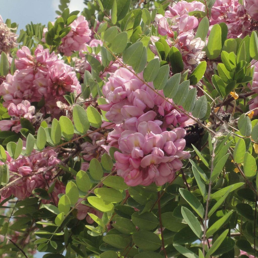
[[91,39],[91,30],[88,21],[80,15],[70,25],[71,30],[62,38],[62,44],[59,47],[60,52],[66,56],[71,56],[73,51],[79,51],[85,47],[85,43]]

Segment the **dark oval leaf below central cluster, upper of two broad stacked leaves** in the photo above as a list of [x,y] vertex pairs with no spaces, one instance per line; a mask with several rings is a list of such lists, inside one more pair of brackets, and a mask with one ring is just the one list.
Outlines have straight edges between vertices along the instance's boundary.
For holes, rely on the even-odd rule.
[[144,212],[141,214],[135,212],[132,215],[132,222],[135,226],[143,230],[155,229],[159,224],[157,216],[151,212]]

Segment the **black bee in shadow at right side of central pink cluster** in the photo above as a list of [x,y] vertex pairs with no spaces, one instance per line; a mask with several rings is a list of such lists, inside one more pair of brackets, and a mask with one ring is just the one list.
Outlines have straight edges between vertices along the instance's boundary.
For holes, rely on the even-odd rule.
[[186,147],[192,148],[192,144],[196,146],[196,144],[201,140],[204,135],[204,128],[199,126],[198,124],[190,125],[184,127],[184,129],[190,128],[186,130],[186,136],[184,139],[186,140]]

